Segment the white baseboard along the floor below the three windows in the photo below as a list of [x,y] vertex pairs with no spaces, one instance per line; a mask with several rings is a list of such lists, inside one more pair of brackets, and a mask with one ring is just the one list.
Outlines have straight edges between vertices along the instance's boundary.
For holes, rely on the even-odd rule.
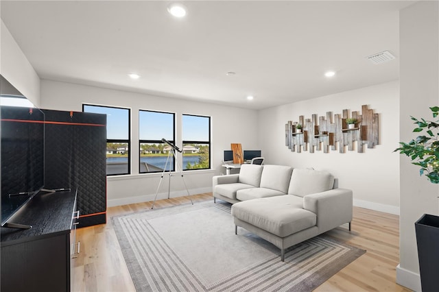
[[[212,187],[207,188],[191,188],[188,190],[191,195],[198,195],[202,193],[211,193]],[[182,191],[171,191],[169,193],[169,197],[184,197],[187,195],[186,190]],[[142,202],[150,202],[154,201],[154,197],[156,194],[150,194],[150,195],[138,195],[134,197],[123,197],[120,199],[108,199],[107,200],[107,207],[115,207],[115,206],[122,206],[122,205],[128,205],[128,204],[137,204]],[[157,199],[167,199],[167,193],[158,193]]]

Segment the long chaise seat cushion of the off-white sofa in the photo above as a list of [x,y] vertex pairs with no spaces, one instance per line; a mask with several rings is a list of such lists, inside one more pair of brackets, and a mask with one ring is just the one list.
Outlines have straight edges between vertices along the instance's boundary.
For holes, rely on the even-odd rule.
[[[285,196],[293,197],[278,197]],[[302,208],[294,208],[287,199],[278,197],[251,199],[233,204],[232,215],[280,237],[316,226],[316,214]]]

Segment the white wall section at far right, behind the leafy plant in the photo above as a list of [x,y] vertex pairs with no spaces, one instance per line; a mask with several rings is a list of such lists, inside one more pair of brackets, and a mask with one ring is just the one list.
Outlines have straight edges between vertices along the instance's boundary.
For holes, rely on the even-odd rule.
[[[410,116],[433,119],[429,107],[439,105],[439,5],[420,1],[400,13],[401,141],[417,135]],[[418,175],[419,167],[400,157],[400,264],[396,282],[420,291],[414,222],[424,213],[438,215],[438,185]]]

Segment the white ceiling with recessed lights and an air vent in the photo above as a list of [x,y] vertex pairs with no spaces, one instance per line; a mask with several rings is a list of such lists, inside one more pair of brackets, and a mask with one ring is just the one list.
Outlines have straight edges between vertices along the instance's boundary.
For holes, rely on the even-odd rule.
[[[2,0],[0,11],[42,79],[261,109],[397,80],[399,10],[414,1],[183,1],[184,19],[169,3]],[[366,59],[385,50],[396,59]]]

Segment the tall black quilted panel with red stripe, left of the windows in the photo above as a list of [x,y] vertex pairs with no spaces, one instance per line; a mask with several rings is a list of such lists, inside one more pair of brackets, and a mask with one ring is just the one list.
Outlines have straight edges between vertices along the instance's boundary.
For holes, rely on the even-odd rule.
[[[45,112],[45,188],[78,188],[80,226],[105,223],[106,116]],[[83,222],[84,221],[84,222]],[[89,224],[86,224],[89,223]]]

